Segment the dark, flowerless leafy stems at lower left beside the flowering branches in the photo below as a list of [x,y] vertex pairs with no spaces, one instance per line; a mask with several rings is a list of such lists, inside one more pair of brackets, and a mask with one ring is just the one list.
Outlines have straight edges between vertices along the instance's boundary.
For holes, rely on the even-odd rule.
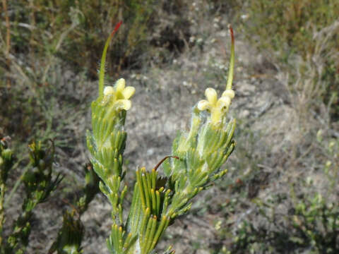
[[[5,201],[6,179],[8,173],[11,173],[14,157],[13,152],[8,148],[7,138],[1,138],[0,141],[0,253],[25,253],[30,239],[31,220],[33,211],[42,202],[46,202],[49,196],[59,183],[63,176],[57,174],[53,177],[54,163],[54,143],[50,147],[42,147],[42,143],[33,142],[30,148],[30,163],[26,167],[21,179],[17,183],[23,181],[25,197],[19,211],[18,218],[11,225],[11,233],[4,236],[3,227],[5,222],[6,208],[9,195]],[[73,211],[64,212],[64,220],[61,229],[57,235],[56,241],[49,248],[49,253],[82,253],[81,242],[83,240],[84,227],[81,222],[81,214],[88,209],[89,203],[95,198],[100,191],[99,178],[93,171],[91,164],[86,164],[85,170],[85,186],[83,193],[73,206]],[[13,190],[12,190],[13,191]],[[8,231],[8,230],[7,230]]]

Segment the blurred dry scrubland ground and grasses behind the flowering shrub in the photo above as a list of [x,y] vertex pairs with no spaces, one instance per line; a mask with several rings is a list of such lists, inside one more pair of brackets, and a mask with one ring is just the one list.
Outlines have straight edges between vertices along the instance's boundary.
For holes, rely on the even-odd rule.
[[[0,135],[17,156],[8,187],[32,140],[54,140],[54,169],[65,176],[35,211],[28,253],[47,253],[83,184],[97,69],[119,20],[106,83],[136,87],[126,119],[131,183],[136,167],[170,155],[206,87],[225,89],[234,28],[229,172],[167,230],[159,253],[169,244],[178,254],[339,252],[338,1],[2,0],[0,8]],[[97,195],[82,219],[83,252],[108,253],[106,198]]]

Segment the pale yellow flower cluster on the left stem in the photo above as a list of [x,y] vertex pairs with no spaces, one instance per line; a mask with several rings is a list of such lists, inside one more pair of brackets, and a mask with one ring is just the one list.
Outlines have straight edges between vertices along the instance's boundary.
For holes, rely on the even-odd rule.
[[114,107],[118,110],[131,109],[132,102],[130,98],[134,95],[136,89],[131,86],[125,87],[125,85],[126,83],[124,78],[120,78],[117,80],[114,87],[106,86],[104,88],[104,102],[113,101]]

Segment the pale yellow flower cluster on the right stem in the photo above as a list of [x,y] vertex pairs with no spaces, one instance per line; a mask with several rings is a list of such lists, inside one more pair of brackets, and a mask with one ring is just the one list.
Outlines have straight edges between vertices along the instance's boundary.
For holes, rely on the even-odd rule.
[[231,101],[234,98],[234,90],[225,90],[218,99],[217,92],[213,88],[208,87],[205,91],[205,96],[207,100],[202,99],[200,102],[198,102],[198,109],[200,111],[209,111],[212,123],[220,123],[222,116],[227,113]]

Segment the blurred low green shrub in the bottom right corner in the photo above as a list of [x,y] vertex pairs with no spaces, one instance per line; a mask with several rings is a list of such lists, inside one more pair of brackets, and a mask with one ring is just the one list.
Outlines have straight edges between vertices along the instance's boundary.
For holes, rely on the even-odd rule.
[[338,253],[339,142],[323,137],[322,131],[317,139],[327,158],[318,176],[295,179],[289,194],[254,199],[255,219],[242,219],[234,236],[228,234],[230,229],[222,229],[222,234],[232,238],[229,253],[299,253],[305,249],[307,253]]

